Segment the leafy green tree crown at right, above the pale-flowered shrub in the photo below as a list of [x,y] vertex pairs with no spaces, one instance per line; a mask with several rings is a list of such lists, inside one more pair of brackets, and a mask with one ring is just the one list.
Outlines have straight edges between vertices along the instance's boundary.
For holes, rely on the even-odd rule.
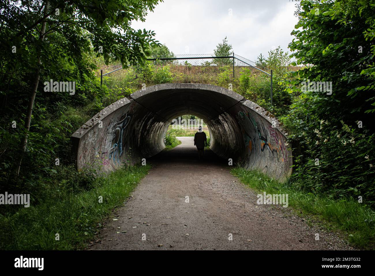
[[299,70],[298,77],[333,84],[332,95],[305,93],[317,114],[323,119],[336,114],[348,122],[374,113],[374,1],[302,0],[301,7],[289,47],[297,64],[314,66]]

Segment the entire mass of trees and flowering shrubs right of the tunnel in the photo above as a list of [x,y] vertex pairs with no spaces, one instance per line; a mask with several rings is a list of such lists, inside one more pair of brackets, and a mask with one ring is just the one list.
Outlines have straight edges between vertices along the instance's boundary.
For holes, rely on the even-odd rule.
[[[293,178],[312,192],[374,205],[375,3],[303,0],[299,7],[289,47],[298,64],[313,66],[279,80],[293,101],[280,118],[298,156]],[[307,89],[307,81],[332,82],[332,91]]]

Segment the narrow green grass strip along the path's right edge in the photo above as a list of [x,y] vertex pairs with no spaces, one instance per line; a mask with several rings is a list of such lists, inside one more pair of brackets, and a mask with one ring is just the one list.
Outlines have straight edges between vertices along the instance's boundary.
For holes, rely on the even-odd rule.
[[234,168],[231,173],[258,192],[288,194],[289,206],[319,217],[326,228],[341,232],[356,248],[375,249],[375,212],[356,199],[335,200],[324,194],[305,192],[293,183],[280,183],[258,171]]

